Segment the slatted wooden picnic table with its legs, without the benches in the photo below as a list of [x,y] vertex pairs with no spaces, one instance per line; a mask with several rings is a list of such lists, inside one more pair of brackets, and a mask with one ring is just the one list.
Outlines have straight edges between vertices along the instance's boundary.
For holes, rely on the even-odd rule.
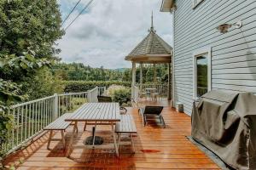
[[[87,103],[79,107],[77,111],[73,113],[72,116],[68,117],[65,121],[73,122],[73,133],[70,139],[70,143],[67,148],[67,156],[70,156],[71,150],[73,149],[73,137],[76,129],[78,127],[78,122],[102,122],[110,125],[112,127],[113,133],[113,146],[116,155],[119,156],[116,136],[114,133],[114,125],[116,122],[120,122],[120,111],[118,103]],[[95,148],[94,144],[92,148]]]

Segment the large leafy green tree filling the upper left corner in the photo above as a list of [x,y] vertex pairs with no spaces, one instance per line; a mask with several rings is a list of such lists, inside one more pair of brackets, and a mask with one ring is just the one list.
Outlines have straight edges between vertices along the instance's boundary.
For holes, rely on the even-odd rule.
[[[34,59],[35,64],[36,59],[52,63],[60,52],[55,48],[55,41],[63,34],[56,0],[0,0],[0,55],[2,59],[26,58],[20,63],[13,62],[12,69],[1,68],[0,78],[22,84],[28,78],[37,77],[39,71],[31,73],[26,67],[38,70],[42,65],[27,65],[26,60]],[[26,94],[26,89],[21,94]]]

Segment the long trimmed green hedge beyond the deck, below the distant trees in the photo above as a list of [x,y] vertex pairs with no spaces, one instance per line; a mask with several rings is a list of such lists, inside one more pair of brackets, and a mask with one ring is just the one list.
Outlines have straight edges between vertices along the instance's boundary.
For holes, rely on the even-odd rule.
[[131,87],[131,82],[116,82],[116,81],[63,81],[62,84],[65,86],[64,91],[66,93],[71,92],[86,92],[96,87],[106,87],[115,84],[122,85],[125,87]]

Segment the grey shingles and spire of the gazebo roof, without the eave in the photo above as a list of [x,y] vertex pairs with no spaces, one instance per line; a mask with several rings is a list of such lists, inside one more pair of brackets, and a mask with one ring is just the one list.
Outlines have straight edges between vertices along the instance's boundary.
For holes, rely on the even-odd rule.
[[128,54],[125,59],[131,60],[137,56],[150,55],[150,54],[172,54],[172,47],[165,42],[160,36],[156,34],[153,26],[153,17],[152,17],[152,26],[149,30],[148,36],[140,42],[136,48],[134,48],[130,54]]

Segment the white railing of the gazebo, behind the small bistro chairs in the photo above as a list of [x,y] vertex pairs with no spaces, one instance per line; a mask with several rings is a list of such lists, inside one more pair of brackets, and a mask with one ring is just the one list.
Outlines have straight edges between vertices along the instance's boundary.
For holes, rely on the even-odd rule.
[[146,92],[146,88],[156,88],[155,93],[159,93],[160,97],[167,98],[168,97],[168,86],[166,84],[143,84],[138,85],[142,92]]

